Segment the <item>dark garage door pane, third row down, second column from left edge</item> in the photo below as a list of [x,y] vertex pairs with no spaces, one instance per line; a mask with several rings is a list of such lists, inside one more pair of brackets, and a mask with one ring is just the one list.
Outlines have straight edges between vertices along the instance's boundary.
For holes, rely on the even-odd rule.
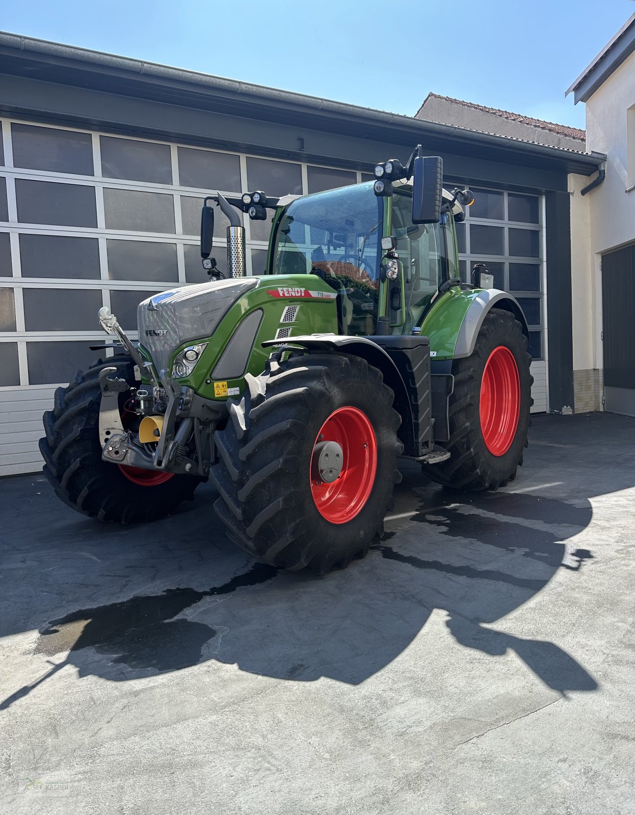
[[67,277],[99,280],[97,238],[20,235],[23,277]]

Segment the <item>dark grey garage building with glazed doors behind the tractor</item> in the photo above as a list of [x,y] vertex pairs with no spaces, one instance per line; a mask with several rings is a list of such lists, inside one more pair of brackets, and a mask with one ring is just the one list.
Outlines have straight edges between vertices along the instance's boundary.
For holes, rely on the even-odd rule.
[[[110,306],[205,280],[210,190],[318,192],[371,178],[417,143],[477,201],[459,227],[464,275],[487,262],[531,325],[536,411],[573,407],[570,195],[602,156],[355,108],[0,34],[0,474],[40,468],[42,411],[99,356]],[[223,218],[214,244],[223,253]],[[248,271],[268,224],[247,222]],[[109,350],[106,351],[108,355]]]

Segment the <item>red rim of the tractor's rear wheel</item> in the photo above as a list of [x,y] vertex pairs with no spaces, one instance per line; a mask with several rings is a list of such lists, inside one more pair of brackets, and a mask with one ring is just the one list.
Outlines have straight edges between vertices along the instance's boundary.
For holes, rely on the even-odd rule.
[[514,355],[498,346],[487,358],[481,382],[480,418],[485,447],[503,456],[511,447],[520,416],[520,377]]

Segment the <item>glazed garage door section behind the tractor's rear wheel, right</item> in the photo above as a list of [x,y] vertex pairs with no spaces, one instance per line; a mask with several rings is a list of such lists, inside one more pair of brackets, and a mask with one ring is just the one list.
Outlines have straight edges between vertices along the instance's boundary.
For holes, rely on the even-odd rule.
[[456,232],[461,275],[485,263],[496,289],[513,294],[529,324],[534,384],[532,412],[549,409],[545,326],[545,241],[542,196],[474,188],[474,204]]

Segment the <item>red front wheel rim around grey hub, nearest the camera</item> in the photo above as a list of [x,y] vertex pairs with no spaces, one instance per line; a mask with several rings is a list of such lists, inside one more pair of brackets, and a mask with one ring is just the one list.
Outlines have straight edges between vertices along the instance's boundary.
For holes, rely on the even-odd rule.
[[[377,473],[377,439],[368,416],[357,407],[339,407],[320,427],[313,445],[336,442],[342,447],[342,472],[331,483],[310,473],[311,495],[318,512],[331,523],[355,518],[368,501]],[[311,465],[313,463],[311,452]]]

